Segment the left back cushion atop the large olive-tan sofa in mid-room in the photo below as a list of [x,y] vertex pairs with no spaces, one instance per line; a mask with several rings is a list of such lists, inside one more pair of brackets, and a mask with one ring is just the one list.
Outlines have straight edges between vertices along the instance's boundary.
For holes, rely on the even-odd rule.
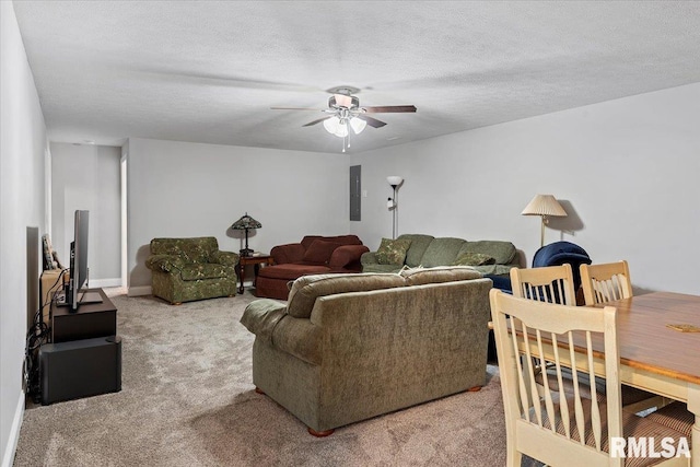
[[399,275],[318,275],[296,279],[289,292],[287,313],[298,318],[308,318],[316,299],[345,292],[364,292],[404,287]]

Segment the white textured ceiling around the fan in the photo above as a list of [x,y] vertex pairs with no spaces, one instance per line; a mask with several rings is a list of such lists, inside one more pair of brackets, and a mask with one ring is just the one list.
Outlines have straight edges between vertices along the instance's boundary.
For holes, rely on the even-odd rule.
[[13,2],[51,141],[340,152],[313,112],[413,104],[349,152],[700,81],[700,3]]

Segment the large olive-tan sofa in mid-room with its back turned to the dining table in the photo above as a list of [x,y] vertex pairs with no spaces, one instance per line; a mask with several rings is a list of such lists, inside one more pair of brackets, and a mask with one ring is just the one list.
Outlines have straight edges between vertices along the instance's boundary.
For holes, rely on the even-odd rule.
[[241,318],[253,383],[315,435],[480,388],[490,289],[471,268],[304,276]]

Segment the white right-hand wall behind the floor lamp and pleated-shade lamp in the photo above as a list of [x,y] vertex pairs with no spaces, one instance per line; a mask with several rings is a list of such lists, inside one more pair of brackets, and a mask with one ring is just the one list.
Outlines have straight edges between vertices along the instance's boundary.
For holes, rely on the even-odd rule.
[[[420,112],[420,109],[419,109]],[[568,201],[546,243],[581,245],[595,262],[627,259],[634,287],[700,294],[700,83],[365,152],[362,222],[370,248],[390,236],[387,175],[399,233],[510,240],[539,247],[536,194]]]

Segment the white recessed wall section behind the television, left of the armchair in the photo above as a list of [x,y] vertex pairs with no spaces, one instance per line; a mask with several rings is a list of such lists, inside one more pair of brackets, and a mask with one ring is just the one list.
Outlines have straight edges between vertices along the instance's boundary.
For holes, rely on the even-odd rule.
[[51,148],[51,243],[69,266],[77,209],[90,211],[90,287],[121,284],[121,148],[56,143]]

